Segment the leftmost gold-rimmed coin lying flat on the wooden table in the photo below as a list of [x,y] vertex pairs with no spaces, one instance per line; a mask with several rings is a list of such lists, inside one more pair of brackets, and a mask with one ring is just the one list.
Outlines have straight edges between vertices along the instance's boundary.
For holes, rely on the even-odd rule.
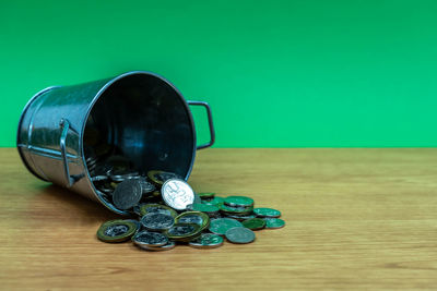
[[116,219],[104,222],[97,230],[97,238],[104,242],[123,242],[137,231],[137,225],[129,220]]

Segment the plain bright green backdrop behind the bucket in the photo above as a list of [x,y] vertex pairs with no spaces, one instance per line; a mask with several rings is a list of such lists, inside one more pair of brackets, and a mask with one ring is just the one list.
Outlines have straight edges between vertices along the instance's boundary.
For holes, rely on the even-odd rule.
[[217,147],[437,146],[437,1],[0,1],[0,146],[39,89],[131,70]]

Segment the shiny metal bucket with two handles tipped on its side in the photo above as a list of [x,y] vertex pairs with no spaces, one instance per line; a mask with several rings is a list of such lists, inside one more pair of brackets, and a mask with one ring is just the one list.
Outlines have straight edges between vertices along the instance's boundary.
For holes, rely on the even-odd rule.
[[[197,146],[189,105],[206,109],[210,142]],[[92,124],[92,125],[91,125]],[[96,132],[97,130],[97,132]],[[139,170],[177,173],[186,180],[196,150],[214,143],[211,109],[203,101],[186,101],[168,81],[134,71],[73,86],[37,93],[20,118],[16,146],[27,169],[37,178],[117,209],[91,180],[84,138],[90,131],[121,151]]]

